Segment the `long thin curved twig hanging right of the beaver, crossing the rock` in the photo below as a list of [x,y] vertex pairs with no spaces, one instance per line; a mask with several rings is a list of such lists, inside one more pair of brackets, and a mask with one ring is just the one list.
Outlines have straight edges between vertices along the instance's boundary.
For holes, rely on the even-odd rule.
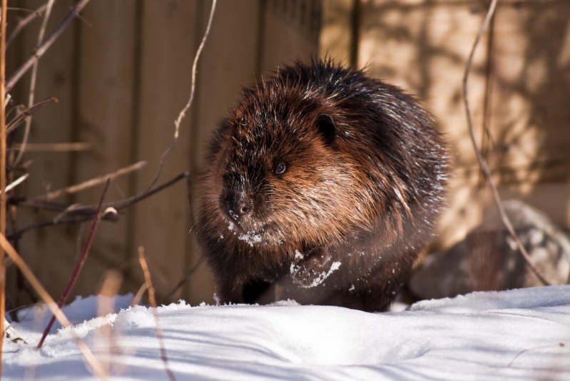
[[477,160],[479,160],[479,165],[481,166],[483,173],[484,173],[485,177],[487,178],[487,181],[489,182],[489,186],[491,187],[495,203],[497,203],[497,208],[499,210],[499,213],[501,215],[501,219],[503,220],[504,225],[507,227],[507,230],[509,230],[509,234],[512,236],[512,238],[516,242],[516,245],[519,247],[519,251],[520,251],[521,255],[523,256],[524,260],[526,261],[526,264],[529,265],[529,268],[531,268],[531,270],[533,271],[534,275],[536,275],[536,278],[539,278],[541,283],[543,283],[544,285],[550,285],[549,281],[546,280],[546,278],[544,278],[544,276],[540,273],[540,271],[532,264],[529,253],[526,251],[526,248],[524,248],[524,245],[521,243],[521,240],[519,240],[519,236],[516,235],[516,232],[514,231],[511,220],[509,219],[509,216],[507,215],[507,213],[504,211],[503,205],[501,203],[501,197],[499,196],[499,191],[497,191],[497,186],[495,186],[493,178],[491,177],[491,172],[489,171],[489,166],[487,166],[487,161],[485,161],[485,159],[483,158],[481,150],[479,150],[479,147],[477,146],[477,141],[475,141],[475,133],[473,131],[473,122],[471,120],[471,111],[469,109],[469,100],[467,99],[467,93],[468,93],[468,91],[467,91],[467,79],[469,78],[469,71],[471,69],[475,49],[477,48],[477,44],[479,44],[479,39],[481,39],[481,36],[484,34],[484,31],[487,30],[487,26],[489,26],[489,22],[491,21],[492,17],[494,16],[494,12],[495,12],[495,9],[497,7],[497,1],[498,0],[492,0],[491,4],[489,5],[489,10],[487,11],[487,16],[485,16],[483,24],[482,24],[481,28],[479,29],[479,32],[477,33],[477,37],[475,38],[471,52],[469,53],[469,59],[467,59],[467,64],[465,65],[465,73],[464,73],[464,77],[463,77],[463,100],[464,100],[464,104],[465,104],[465,112],[467,113],[467,124],[469,127],[469,136],[471,137],[471,142],[473,144],[473,148],[475,150],[475,153],[477,154]]

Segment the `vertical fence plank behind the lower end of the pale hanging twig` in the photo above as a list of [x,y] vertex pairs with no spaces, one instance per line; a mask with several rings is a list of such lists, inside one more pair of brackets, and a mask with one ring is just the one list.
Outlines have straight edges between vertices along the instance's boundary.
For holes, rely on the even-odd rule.
[[[141,93],[137,158],[148,161],[138,176],[137,188],[151,183],[164,151],[173,143],[174,121],[188,101],[190,69],[195,53],[196,1],[144,0],[141,55]],[[163,182],[190,165],[190,118],[180,125],[178,145],[166,158],[161,173]],[[188,222],[188,197],[184,182],[166,189],[136,205],[133,248],[145,247],[161,298],[182,278],[185,265]],[[136,252],[129,255],[136,255]],[[139,272],[133,273],[138,276]],[[142,277],[139,277],[142,281]]]

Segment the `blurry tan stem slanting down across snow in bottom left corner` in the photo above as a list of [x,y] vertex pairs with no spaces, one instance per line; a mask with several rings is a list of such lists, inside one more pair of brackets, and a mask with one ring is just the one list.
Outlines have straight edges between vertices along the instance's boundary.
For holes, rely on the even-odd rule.
[[[6,251],[6,253],[11,258],[11,260],[14,262],[14,264],[16,266],[18,266],[21,273],[24,275],[26,280],[28,280],[28,282],[30,283],[31,287],[34,288],[34,290],[39,295],[39,297],[44,302],[44,304],[47,306],[47,308],[49,308],[49,310],[51,310],[51,313],[54,314],[54,316],[57,318],[58,322],[60,322],[61,326],[62,327],[71,327],[71,322],[69,322],[66,315],[63,314],[63,311],[61,310],[61,308],[58,307],[56,301],[53,298],[51,298],[51,296],[46,291],[44,286],[41,285],[38,278],[36,278],[36,275],[34,275],[34,273],[31,272],[28,265],[26,265],[26,262],[24,262],[24,260],[21,258],[21,256],[18,253],[16,253],[16,250],[14,250],[12,245],[10,245],[10,243],[8,242],[8,240],[6,240],[6,237],[4,237],[3,234],[0,234],[0,246],[3,250]],[[86,345],[86,343],[83,342],[83,340],[81,340],[76,335],[76,332],[75,332],[75,330],[73,330],[73,328],[71,328],[70,332],[71,332],[71,335],[73,336],[73,341],[76,343],[79,350],[81,350],[83,357],[85,357],[85,360],[88,362],[89,365],[91,365],[95,374],[99,378],[101,378],[102,380],[107,380],[108,375],[106,375],[106,373],[103,371],[103,367],[101,366],[101,363],[93,355],[93,352],[91,352],[91,350],[89,350],[89,347]]]

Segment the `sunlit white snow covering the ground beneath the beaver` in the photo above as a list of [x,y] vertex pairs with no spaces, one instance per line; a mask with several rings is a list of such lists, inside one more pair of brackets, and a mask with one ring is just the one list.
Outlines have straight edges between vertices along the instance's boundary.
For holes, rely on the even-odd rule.
[[[151,308],[97,316],[98,298],[64,312],[113,380],[168,380]],[[4,380],[92,380],[71,329],[28,311],[4,343]],[[158,308],[168,367],[177,380],[570,380],[570,285],[472,293],[363,313],[297,305]]]

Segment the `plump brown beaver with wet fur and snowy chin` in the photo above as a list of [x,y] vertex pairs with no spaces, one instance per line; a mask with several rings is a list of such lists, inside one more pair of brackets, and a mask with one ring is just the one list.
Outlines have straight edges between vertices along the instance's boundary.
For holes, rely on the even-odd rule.
[[363,71],[313,59],[243,88],[199,193],[219,302],[386,310],[433,235],[447,172],[429,113]]

